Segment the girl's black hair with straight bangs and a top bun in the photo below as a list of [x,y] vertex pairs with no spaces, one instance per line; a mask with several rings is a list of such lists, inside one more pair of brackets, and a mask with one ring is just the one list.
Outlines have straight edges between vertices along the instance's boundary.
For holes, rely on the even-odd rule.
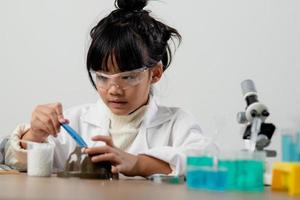
[[[118,69],[129,71],[152,67],[162,61],[166,70],[172,60],[168,41],[181,42],[176,29],[154,19],[143,10],[148,0],[115,0],[116,10],[98,22],[90,32],[87,70],[110,71],[108,59],[115,59]],[[114,63],[114,62],[112,62]]]

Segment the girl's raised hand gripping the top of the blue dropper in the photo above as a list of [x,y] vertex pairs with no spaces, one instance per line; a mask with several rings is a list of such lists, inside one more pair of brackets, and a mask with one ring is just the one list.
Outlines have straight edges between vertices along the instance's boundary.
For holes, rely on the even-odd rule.
[[56,137],[60,132],[61,123],[69,123],[63,116],[61,103],[39,105],[34,109],[31,117],[31,127],[22,139],[43,142],[49,135]]

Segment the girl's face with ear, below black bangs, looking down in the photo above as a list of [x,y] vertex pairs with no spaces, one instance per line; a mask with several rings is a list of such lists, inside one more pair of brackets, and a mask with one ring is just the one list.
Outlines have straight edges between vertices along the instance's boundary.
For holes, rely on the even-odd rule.
[[[114,62],[114,60],[112,62]],[[115,66],[116,64],[111,63],[111,59],[108,59],[108,68],[111,69],[109,73],[106,73],[108,76],[106,77],[104,74],[103,76],[99,76],[99,73],[96,73],[97,77],[100,77],[98,81],[103,79],[105,79],[105,81],[109,79],[110,81],[110,84],[108,84],[109,87],[107,88],[101,87],[100,83],[98,82],[97,84],[96,81],[97,91],[112,113],[128,115],[147,104],[151,85],[156,83],[162,75],[162,66],[158,64],[151,69],[138,71],[138,73],[120,73]],[[131,78],[131,74],[135,76],[138,74],[138,84],[132,84],[127,87],[123,87],[122,84],[119,84],[122,83],[123,80],[127,81],[127,78]]]

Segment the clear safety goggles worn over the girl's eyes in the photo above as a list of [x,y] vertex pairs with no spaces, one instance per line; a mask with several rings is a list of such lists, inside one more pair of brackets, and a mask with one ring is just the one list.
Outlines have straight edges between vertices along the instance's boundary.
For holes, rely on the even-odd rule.
[[146,77],[143,73],[147,67],[121,72],[117,74],[107,74],[105,72],[92,71],[91,75],[96,86],[100,89],[108,90],[112,85],[126,90],[141,83]]

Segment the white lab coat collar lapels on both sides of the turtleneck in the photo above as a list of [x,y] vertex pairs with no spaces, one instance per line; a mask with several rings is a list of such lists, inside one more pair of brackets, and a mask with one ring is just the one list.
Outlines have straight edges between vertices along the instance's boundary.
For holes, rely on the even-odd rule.
[[[94,106],[92,106],[87,111],[87,113],[81,117],[81,119],[84,122],[92,124],[94,126],[101,127],[103,129],[108,129],[108,113],[109,110],[107,106],[103,103],[102,100],[98,100],[96,104],[94,104]],[[169,109],[164,109],[163,112],[161,112],[158,109],[156,99],[153,95],[151,95],[142,125],[145,128],[155,127],[170,120],[171,117],[172,114]]]

